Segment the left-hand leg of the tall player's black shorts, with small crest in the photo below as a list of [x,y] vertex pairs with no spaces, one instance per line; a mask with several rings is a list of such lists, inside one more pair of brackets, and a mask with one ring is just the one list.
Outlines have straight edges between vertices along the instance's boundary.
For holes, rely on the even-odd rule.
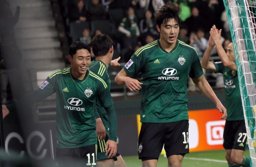
[[164,145],[164,124],[142,122],[138,139],[138,154],[142,161],[159,158]]

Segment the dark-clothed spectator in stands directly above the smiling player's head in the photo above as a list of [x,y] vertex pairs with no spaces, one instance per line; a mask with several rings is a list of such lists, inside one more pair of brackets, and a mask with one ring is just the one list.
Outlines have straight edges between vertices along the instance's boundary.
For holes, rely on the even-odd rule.
[[76,6],[72,6],[68,13],[69,22],[85,22],[88,17],[83,0],[78,0]]

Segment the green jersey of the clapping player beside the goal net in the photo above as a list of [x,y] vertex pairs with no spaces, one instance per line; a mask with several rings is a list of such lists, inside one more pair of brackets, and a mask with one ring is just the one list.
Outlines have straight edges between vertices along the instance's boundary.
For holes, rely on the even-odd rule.
[[217,73],[223,74],[225,86],[226,109],[228,117],[226,120],[244,120],[244,112],[237,72],[226,68],[222,62],[214,63]]

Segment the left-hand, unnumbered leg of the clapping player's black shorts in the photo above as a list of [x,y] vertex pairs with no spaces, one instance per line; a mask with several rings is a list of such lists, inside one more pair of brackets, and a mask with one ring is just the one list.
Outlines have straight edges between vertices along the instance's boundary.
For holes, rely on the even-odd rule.
[[[223,147],[224,149],[231,150],[234,146],[234,138],[236,135],[236,127],[234,121],[226,121],[223,132]],[[230,154],[231,155],[231,154]]]

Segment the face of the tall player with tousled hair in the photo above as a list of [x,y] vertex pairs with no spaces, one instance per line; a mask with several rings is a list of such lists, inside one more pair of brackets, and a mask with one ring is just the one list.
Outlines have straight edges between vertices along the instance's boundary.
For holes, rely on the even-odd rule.
[[166,25],[162,24],[160,28],[159,26],[156,26],[156,28],[160,32],[161,40],[168,45],[176,43],[180,28],[174,19],[169,20]]

